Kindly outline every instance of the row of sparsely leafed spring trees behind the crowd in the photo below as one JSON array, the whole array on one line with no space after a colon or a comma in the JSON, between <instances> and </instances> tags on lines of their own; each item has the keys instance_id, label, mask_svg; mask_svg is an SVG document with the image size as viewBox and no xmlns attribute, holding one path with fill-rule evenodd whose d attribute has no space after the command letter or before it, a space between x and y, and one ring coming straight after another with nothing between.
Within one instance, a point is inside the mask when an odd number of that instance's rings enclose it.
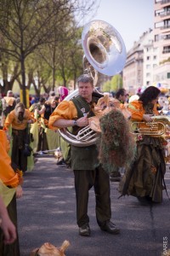
<instances>
[{"instance_id":1,"label":"row of sparsely leafed spring trees behind the crowd","mask_svg":"<svg viewBox=\"0 0 170 256\"><path fill-rule=\"evenodd\" d=\"M14 81L33 84L37 96L82 73L82 19L93 15L94 0L0 0L0 73L2 93ZM82 24L83 25L83 24Z\"/></svg>"}]
</instances>

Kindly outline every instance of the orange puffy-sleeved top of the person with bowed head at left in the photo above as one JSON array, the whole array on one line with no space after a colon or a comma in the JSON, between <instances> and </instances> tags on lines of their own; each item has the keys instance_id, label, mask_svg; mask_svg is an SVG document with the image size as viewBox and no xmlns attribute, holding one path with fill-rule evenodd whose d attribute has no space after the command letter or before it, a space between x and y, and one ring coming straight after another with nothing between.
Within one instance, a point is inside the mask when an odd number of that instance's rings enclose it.
<instances>
[{"instance_id":1,"label":"orange puffy-sleeved top of the person with bowed head at left","mask_svg":"<svg viewBox=\"0 0 170 256\"><path fill-rule=\"evenodd\" d=\"M12 125L12 127L16 130L25 130L28 120L32 120L33 123L36 122L36 119L33 117L32 113L28 109L25 109L24 120L22 122L20 122L17 119L15 111L13 110L10 113L8 113L8 116L5 119L5 123L3 127L4 129L8 130L8 127Z\"/></svg>"}]
</instances>

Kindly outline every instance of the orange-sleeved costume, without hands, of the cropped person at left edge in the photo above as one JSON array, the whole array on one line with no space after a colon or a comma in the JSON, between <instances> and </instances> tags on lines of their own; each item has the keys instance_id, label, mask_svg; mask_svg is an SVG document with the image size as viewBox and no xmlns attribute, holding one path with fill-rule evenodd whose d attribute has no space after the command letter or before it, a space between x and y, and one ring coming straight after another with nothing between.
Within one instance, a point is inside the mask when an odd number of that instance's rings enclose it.
<instances>
[{"instance_id":1,"label":"orange-sleeved costume, without hands, of the cropped person at left edge","mask_svg":"<svg viewBox=\"0 0 170 256\"><path fill-rule=\"evenodd\" d=\"M8 156L8 139L5 131L0 130L0 195L7 207L8 216L17 230L17 210L16 210L16 187L22 183L22 172L14 172L11 167L11 160ZM3 231L0 229L0 251L1 255L20 256L19 239L6 245L3 242Z\"/></svg>"}]
</instances>

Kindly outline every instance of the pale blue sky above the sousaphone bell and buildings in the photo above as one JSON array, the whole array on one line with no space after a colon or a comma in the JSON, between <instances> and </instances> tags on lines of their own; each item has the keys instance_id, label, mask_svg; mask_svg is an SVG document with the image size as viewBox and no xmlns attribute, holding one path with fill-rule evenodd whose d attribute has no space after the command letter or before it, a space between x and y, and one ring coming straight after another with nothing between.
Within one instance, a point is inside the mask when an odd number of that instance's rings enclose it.
<instances>
[{"instance_id":1,"label":"pale blue sky above the sousaphone bell and buildings","mask_svg":"<svg viewBox=\"0 0 170 256\"><path fill-rule=\"evenodd\" d=\"M104 20L121 34L127 51L143 32L154 27L155 0L100 0L91 20ZM89 21L91 21L89 20Z\"/></svg>"}]
</instances>

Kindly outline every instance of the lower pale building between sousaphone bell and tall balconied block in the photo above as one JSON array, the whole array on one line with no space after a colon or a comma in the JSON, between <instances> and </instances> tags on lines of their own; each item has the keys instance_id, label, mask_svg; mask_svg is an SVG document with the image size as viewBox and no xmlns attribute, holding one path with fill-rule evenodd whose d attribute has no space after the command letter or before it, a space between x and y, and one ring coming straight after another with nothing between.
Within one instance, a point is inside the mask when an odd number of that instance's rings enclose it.
<instances>
[{"instance_id":1,"label":"lower pale building between sousaphone bell and tall balconied block","mask_svg":"<svg viewBox=\"0 0 170 256\"><path fill-rule=\"evenodd\" d=\"M123 87L130 93L135 94L144 86L144 83L151 84L153 55L153 32L151 29L144 32L137 42L134 42L133 48L127 52L127 61L123 69ZM147 54L147 55L146 55ZM144 68L145 67L145 68ZM149 68L150 67L150 68ZM148 69L147 78L145 72Z\"/></svg>"}]
</instances>

